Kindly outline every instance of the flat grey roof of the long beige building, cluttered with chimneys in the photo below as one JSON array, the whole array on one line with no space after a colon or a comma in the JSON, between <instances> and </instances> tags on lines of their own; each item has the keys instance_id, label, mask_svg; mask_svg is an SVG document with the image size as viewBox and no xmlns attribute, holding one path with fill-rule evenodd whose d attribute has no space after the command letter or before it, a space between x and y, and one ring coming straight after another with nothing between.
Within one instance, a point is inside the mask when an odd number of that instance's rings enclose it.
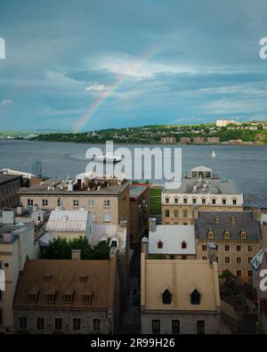
<instances>
[{"instance_id":1,"label":"flat grey roof of the long beige building, cluttered with chimneys","mask_svg":"<svg viewBox=\"0 0 267 352\"><path fill-rule=\"evenodd\" d=\"M53 180L54 182L54 180ZM54 194L54 195L62 195L62 194L69 194L69 195L83 195L83 194L91 194L91 195L118 195L124 191L125 187L128 185L128 182L124 184L118 185L110 185L108 187L101 188L99 191L73 191L69 192L68 188L55 188L48 190L48 186L53 184L52 180L46 181L43 184L37 184L35 186L25 188L20 191L20 194Z\"/></svg>"}]
</instances>

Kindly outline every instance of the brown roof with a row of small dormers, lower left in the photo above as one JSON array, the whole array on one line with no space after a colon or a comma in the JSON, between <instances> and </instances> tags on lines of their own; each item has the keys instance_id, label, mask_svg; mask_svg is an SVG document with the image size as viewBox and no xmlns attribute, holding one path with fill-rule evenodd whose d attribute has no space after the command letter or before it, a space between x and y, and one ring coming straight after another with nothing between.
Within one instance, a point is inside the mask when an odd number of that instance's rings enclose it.
<instances>
[{"instance_id":1,"label":"brown roof with a row of small dormers, lower left","mask_svg":"<svg viewBox=\"0 0 267 352\"><path fill-rule=\"evenodd\" d=\"M85 275L87 275L86 278ZM115 278L116 258L109 260L27 260L17 282L13 307L106 309L113 307ZM69 294L69 291L73 292L73 299L71 303L65 303L64 295ZM33 292L36 294L36 302L32 302L32 299L28 302L28 294ZM89 305L84 302L84 295L89 295L88 292L93 295ZM46 302L47 294L55 295L53 303Z\"/></svg>"}]
</instances>

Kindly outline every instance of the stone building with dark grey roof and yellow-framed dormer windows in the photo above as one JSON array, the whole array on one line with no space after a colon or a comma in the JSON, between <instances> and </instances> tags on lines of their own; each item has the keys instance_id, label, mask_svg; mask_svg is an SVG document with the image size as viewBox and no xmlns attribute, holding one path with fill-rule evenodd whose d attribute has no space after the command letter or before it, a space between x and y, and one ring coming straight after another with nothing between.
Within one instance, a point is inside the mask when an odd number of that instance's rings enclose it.
<instances>
[{"instance_id":1,"label":"stone building with dark grey roof and yellow-framed dormer windows","mask_svg":"<svg viewBox=\"0 0 267 352\"><path fill-rule=\"evenodd\" d=\"M197 258L208 257L208 243L216 246L219 274L231 271L238 282L252 283L250 262L261 249L260 222L252 211L195 211Z\"/></svg>"}]
</instances>

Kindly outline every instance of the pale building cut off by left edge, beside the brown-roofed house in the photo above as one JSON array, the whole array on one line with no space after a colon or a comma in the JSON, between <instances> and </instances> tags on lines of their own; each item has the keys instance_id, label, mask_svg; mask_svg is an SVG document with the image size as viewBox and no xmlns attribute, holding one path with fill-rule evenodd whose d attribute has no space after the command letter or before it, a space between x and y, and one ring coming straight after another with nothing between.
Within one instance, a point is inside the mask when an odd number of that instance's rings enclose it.
<instances>
[{"instance_id":1,"label":"pale building cut off by left edge, beside the brown-roofed house","mask_svg":"<svg viewBox=\"0 0 267 352\"><path fill-rule=\"evenodd\" d=\"M0 332L12 332L12 300L20 270L27 258L37 258L34 225L1 224L0 269L4 291L0 294Z\"/></svg>"}]
</instances>

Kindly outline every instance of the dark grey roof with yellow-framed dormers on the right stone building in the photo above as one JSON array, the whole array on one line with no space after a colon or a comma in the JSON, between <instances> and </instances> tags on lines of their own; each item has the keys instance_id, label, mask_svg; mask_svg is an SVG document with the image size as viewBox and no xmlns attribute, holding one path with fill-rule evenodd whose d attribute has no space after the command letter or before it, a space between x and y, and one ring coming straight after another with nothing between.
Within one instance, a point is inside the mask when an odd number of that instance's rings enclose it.
<instances>
[{"instance_id":1,"label":"dark grey roof with yellow-framed dormers on the right stone building","mask_svg":"<svg viewBox=\"0 0 267 352\"><path fill-rule=\"evenodd\" d=\"M219 217L220 224L215 224L215 218ZM231 224L231 218L235 218L235 224ZM247 233L247 240L256 241L261 238L261 226L253 217L252 211L199 211L195 219L195 233L200 240L207 239L209 230L214 232L214 240L223 240L224 232L231 233L232 240L240 240L240 232Z\"/></svg>"}]
</instances>

